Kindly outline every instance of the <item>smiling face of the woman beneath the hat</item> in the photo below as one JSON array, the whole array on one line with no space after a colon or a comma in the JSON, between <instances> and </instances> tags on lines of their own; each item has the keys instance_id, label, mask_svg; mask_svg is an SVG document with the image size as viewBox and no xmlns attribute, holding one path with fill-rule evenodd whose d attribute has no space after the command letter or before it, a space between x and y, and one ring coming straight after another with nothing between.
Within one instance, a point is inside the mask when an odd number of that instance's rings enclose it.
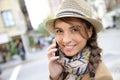
<instances>
[{"instance_id":1,"label":"smiling face of the woman beneath the hat","mask_svg":"<svg viewBox=\"0 0 120 80\"><path fill-rule=\"evenodd\" d=\"M55 40L66 56L74 56L85 47L87 39L81 36L86 35L83 29L80 34L80 29L85 27L80 20L73 18L69 22L71 24L56 20Z\"/></svg>"}]
</instances>

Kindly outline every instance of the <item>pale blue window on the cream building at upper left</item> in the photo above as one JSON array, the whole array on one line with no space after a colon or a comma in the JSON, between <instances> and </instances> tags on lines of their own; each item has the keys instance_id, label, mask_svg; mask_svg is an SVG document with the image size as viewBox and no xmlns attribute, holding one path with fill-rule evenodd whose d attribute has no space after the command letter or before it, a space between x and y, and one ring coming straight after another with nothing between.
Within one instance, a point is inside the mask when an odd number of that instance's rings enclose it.
<instances>
[{"instance_id":1,"label":"pale blue window on the cream building at upper left","mask_svg":"<svg viewBox=\"0 0 120 80\"><path fill-rule=\"evenodd\" d=\"M13 15L10 10L2 11L1 14L5 27L11 27L15 25Z\"/></svg>"}]
</instances>

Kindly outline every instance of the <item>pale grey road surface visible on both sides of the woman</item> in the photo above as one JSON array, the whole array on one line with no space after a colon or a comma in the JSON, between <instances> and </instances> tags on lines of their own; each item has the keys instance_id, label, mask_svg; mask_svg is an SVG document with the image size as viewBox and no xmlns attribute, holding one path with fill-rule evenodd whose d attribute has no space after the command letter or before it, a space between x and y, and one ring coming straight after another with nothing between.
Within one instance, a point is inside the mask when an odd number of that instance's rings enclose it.
<instances>
[{"instance_id":1,"label":"pale grey road surface visible on both sides of the woman","mask_svg":"<svg viewBox=\"0 0 120 80\"><path fill-rule=\"evenodd\" d=\"M120 29L106 30L98 34L98 43L103 49L102 59L110 69L114 80L120 80ZM44 51L43 51L44 52ZM48 80L47 56L8 68L2 80Z\"/></svg>"}]
</instances>

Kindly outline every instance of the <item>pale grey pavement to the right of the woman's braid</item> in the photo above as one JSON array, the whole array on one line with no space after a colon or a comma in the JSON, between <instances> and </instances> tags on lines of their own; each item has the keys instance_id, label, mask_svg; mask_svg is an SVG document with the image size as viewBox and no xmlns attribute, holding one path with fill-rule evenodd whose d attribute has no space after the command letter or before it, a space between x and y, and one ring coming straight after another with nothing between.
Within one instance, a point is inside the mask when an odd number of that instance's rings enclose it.
<instances>
[{"instance_id":1,"label":"pale grey pavement to the right of the woman's braid","mask_svg":"<svg viewBox=\"0 0 120 80\"><path fill-rule=\"evenodd\" d=\"M120 80L120 29L109 29L99 34L99 43L103 49L103 60L113 80Z\"/></svg>"}]
</instances>

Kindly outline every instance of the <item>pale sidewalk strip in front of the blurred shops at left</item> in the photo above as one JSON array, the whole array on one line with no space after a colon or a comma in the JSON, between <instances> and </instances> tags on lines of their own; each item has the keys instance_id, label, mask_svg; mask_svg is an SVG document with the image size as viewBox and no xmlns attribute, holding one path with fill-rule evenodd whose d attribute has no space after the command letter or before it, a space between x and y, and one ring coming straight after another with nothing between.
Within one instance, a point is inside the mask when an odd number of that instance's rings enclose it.
<instances>
[{"instance_id":1,"label":"pale sidewalk strip in front of the blurred shops at left","mask_svg":"<svg viewBox=\"0 0 120 80\"><path fill-rule=\"evenodd\" d=\"M19 64L24 64L27 62L32 62L38 59L41 59L42 57L45 57L46 55L46 50L47 50L47 46L45 46L43 49L41 50L37 50L35 52L32 53L27 53L26 55L26 60L22 61L19 55L15 55L13 60L8 61L6 63L1 63L0 66L2 68L2 70L8 69L8 68L12 68L15 67Z\"/></svg>"}]
</instances>

